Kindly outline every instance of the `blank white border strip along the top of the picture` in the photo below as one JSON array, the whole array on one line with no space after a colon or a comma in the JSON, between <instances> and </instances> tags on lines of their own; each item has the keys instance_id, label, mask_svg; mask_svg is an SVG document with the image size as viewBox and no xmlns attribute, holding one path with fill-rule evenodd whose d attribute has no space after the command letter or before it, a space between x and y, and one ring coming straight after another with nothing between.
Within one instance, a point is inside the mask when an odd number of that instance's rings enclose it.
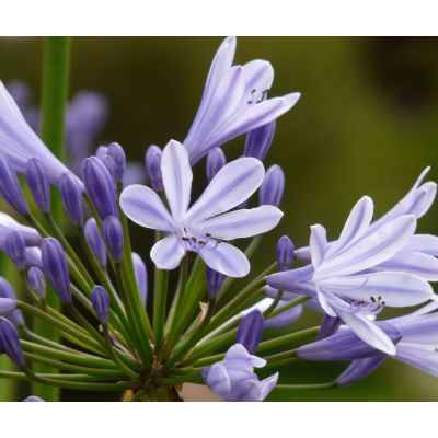
<instances>
[{"instance_id":1,"label":"blank white border strip along the top of the picture","mask_svg":"<svg viewBox=\"0 0 438 438\"><path fill-rule=\"evenodd\" d=\"M3 35L436 35L435 0L3 0Z\"/></svg>"}]
</instances>

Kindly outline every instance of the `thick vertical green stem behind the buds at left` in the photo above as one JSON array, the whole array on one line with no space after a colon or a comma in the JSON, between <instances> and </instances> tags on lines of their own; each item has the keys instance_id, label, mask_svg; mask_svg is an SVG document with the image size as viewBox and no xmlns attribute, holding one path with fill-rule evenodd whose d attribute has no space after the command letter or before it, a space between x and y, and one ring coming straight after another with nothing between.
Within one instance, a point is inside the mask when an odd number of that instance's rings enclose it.
<instances>
[{"instance_id":1,"label":"thick vertical green stem behind the buds at left","mask_svg":"<svg viewBox=\"0 0 438 438\"><path fill-rule=\"evenodd\" d=\"M66 107L68 99L70 38L49 36L44 41L43 84L42 84L42 127L41 134L45 145L58 159L64 159ZM51 208L58 223L61 223L62 207L59 196L54 193ZM47 302L59 306L56 295L48 290ZM44 321L36 320L35 333L51 341L58 335ZM51 367L36 365L35 372L56 372ZM59 390L46 387L41 382L32 384L32 393L47 401L58 401Z\"/></svg>"}]
</instances>

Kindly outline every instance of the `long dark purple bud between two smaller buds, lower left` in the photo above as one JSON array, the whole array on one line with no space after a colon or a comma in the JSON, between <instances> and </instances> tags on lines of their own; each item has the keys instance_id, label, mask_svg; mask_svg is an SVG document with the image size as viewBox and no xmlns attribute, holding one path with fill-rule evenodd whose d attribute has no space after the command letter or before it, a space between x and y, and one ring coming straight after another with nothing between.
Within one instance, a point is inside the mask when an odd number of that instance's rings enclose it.
<instances>
[{"instance_id":1,"label":"long dark purple bud between two smaller buds, lower left","mask_svg":"<svg viewBox=\"0 0 438 438\"><path fill-rule=\"evenodd\" d=\"M42 261L46 275L59 299L65 304L71 303L70 276L67 256L61 244L54 238L43 239Z\"/></svg>"}]
</instances>

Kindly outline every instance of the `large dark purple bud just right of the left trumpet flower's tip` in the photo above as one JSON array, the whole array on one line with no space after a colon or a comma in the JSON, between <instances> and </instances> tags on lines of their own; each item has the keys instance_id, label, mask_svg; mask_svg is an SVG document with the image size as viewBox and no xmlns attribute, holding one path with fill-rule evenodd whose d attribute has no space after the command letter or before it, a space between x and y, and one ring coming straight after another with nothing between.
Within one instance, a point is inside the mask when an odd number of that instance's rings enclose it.
<instances>
[{"instance_id":1,"label":"large dark purple bud just right of the left trumpet flower's tip","mask_svg":"<svg viewBox=\"0 0 438 438\"><path fill-rule=\"evenodd\" d=\"M117 216L117 201L113 178L110 172L95 157L90 157L82 162L82 178L85 191L95 206L99 216Z\"/></svg>"}]
</instances>

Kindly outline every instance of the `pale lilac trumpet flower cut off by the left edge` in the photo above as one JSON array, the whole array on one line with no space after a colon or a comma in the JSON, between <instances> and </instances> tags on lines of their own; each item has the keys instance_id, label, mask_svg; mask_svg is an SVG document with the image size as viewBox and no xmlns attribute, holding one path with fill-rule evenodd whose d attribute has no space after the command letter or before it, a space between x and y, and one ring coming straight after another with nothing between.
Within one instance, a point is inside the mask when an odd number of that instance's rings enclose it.
<instances>
[{"instance_id":1,"label":"pale lilac trumpet flower cut off by the left edge","mask_svg":"<svg viewBox=\"0 0 438 438\"><path fill-rule=\"evenodd\" d=\"M25 171L27 160L41 160L48 180L58 184L65 172L70 172L43 143L27 125L15 102L0 81L0 152L8 157L16 172ZM78 183L82 183L78 178Z\"/></svg>"}]
</instances>

